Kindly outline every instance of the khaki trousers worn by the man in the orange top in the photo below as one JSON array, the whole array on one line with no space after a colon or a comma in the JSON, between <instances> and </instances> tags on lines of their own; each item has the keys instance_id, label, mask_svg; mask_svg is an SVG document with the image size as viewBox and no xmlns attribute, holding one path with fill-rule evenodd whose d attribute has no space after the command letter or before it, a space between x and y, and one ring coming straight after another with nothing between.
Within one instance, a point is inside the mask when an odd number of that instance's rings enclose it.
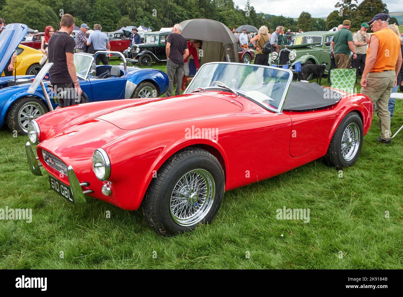
<instances>
[{"instance_id":1,"label":"khaki trousers worn by the man in the orange top","mask_svg":"<svg viewBox=\"0 0 403 297\"><path fill-rule=\"evenodd\" d=\"M380 138L382 139L390 139L392 136L391 113L388 109L388 103L395 79L396 73L393 70L380 73L370 72L367 75L367 86L361 88L361 93L368 96L375 104L375 112L379 117Z\"/></svg>"}]
</instances>

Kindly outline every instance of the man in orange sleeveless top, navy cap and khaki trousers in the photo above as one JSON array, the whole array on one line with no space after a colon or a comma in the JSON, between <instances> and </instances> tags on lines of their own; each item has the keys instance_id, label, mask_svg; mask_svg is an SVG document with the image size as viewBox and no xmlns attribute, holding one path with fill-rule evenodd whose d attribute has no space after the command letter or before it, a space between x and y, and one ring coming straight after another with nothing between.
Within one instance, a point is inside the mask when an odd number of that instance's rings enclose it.
<instances>
[{"instance_id":1,"label":"man in orange sleeveless top, navy cap and khaki trousers","mask_svg":"<svg viewBox=\"0 0 403 297\"><path fill-rule=\"evenodd\" d=\"M361 93L375 104L381 130L377 140L382 143L391 143L391 113L388 102L402 64L401 42L396 33L388 28L388 21L389 15L378 13L368 22L374 33L370 38L361 78Z\"/></svg>"}]
</instances>

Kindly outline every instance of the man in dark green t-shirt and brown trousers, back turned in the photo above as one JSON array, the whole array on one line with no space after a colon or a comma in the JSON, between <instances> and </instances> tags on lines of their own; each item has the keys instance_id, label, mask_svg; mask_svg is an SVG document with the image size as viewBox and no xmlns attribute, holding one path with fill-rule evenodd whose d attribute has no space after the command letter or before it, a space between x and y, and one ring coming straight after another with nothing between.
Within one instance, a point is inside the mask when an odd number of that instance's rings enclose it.
<instances>
[{"instance_id":1,"label":"man in dark green t-shirt and brown trousers, back turned","mask_svg":"<svg viewBox=\"0 0 403 297\"><path fill-rule=\"evenodd\" d=\"M353 33L349 30L350 20L343 21L343 27L333 35L332 48L337 68L347 68L349 56L353 52L353 59L357 58L353 44Z\"/></svg>"}]
</instances>

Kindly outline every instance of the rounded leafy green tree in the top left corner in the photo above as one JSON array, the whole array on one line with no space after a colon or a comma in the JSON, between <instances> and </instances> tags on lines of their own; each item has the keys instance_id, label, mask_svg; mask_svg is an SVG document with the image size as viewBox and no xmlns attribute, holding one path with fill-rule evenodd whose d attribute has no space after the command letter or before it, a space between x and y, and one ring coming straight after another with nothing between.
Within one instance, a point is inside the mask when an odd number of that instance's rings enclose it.
<instances>
[{"instance_id":1,"label":"rounded leafy green tree in the top left corner","mask_svg":"<svg viewBox=\"0 0 403 297\"><path fill-rule=\"evenodd\" d=\"M6 0L2 18L6 23L23 23L38 31L44 31L49 25L58 28L60 22L52 8L37 0Z\"/></svg>"}]
</instances>

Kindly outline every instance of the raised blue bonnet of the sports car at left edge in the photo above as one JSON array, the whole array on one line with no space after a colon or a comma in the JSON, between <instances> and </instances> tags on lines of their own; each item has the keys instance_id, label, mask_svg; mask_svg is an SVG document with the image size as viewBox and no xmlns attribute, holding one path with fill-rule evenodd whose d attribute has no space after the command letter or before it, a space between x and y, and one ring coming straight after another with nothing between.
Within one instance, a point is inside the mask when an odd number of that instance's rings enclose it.
<instances>
[{"instance_id":1,"label":"raised blue bonnet of the sports car at left edge","mask_svg":"<svg viewBox=\"0 0 403 297\"><path fill-rule=\"evenodd\" d=\"M0 34L0 70L8 66L12 54L28 33L28 26L24 24L8 24Z\"/></svg>"}]
</instances>

